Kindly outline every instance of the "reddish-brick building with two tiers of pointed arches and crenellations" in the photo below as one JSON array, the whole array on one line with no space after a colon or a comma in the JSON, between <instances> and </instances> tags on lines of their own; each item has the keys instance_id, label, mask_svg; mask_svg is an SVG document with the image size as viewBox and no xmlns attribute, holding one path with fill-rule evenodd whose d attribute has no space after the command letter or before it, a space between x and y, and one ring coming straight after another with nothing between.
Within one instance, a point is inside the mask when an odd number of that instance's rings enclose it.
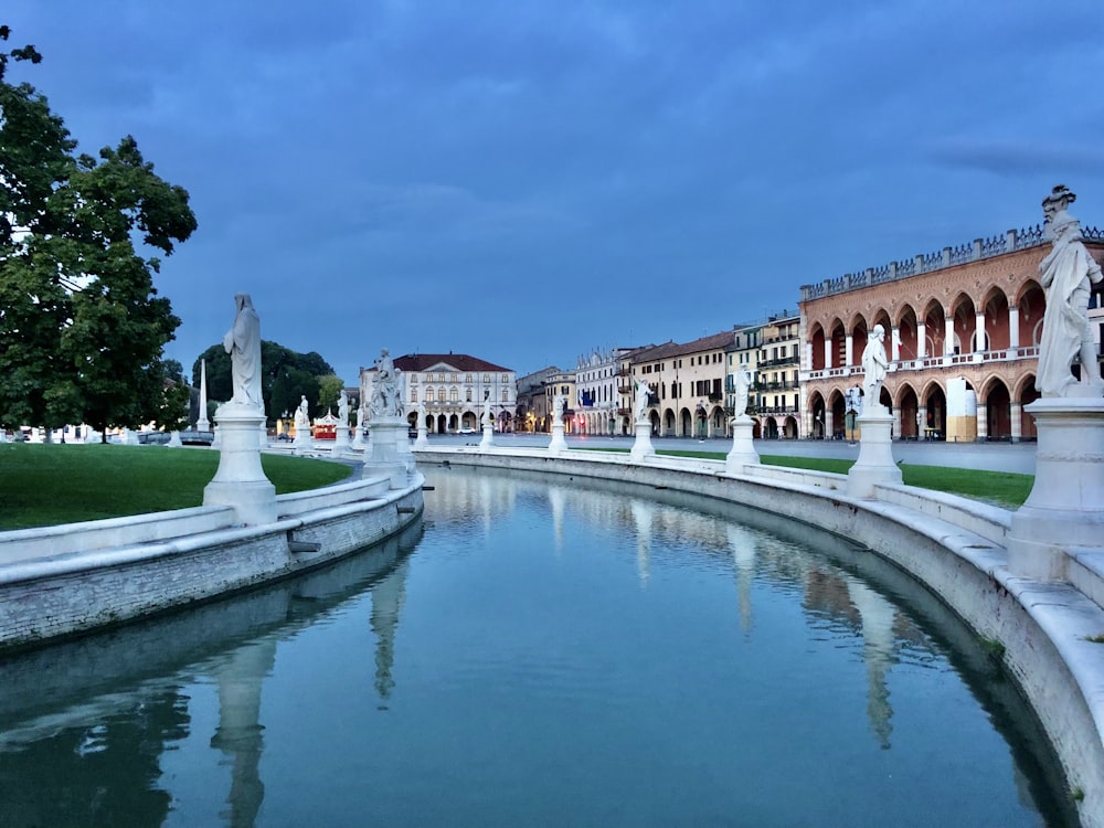
<instances>
[{"instance_id":1,"label":"reddish-brick building with two tiers of pointed arches and crenellations","mask_svg":"<svg viewBox=\"0 0 1104 828\"><path fill-rule=\"evenodd\" d=\"M1084 235L1102 258L1104 233ZM881 325L890 373L880 402L895 436L1034 437L1023 406L1038 396L1039 263L1049 252L1037 226L803 286L802 433L822 423L841 435L843 392L859 384L867 332ZM964 384L952 388L955 379Z\"/></svg>"}]
</instances>

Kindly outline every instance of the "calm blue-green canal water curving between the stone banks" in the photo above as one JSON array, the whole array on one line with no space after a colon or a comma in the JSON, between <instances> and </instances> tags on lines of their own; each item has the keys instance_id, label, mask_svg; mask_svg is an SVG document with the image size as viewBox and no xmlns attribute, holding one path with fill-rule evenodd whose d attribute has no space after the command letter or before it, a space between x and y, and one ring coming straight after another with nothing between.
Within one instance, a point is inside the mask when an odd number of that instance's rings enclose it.
<instances>
[{"instance_id":1,"label":"calm blue-green canal water curving between the stone banks","mask_svg":"<svg viewBox=\"0 0 1104 828\"><path fill-rule=\"evenodd\" d=\"M424 533L0 662L0 826L1075 824L995 662L869 552L427 473Z\"/></svg>"}]
</instances>

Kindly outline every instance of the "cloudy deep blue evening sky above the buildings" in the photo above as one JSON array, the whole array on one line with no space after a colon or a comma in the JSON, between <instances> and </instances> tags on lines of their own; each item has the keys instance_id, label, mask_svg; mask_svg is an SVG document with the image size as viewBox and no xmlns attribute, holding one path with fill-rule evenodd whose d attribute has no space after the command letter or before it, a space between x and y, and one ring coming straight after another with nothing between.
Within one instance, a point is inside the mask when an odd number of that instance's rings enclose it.
<instances>
[{"instance_id":1,"label":"cloudy deep blue evening sky above the buildings","mask_svg":"<svg viewBox=\"0 0 1104 828\"><path fill-rule=\"evenodd\" d=\"M799 287L1104 226L1100 0L6 0L79 150L132 135L199 230L185 369L248 293L347 384L381 348L519 375Z\"/></svg>"}]
</instances>

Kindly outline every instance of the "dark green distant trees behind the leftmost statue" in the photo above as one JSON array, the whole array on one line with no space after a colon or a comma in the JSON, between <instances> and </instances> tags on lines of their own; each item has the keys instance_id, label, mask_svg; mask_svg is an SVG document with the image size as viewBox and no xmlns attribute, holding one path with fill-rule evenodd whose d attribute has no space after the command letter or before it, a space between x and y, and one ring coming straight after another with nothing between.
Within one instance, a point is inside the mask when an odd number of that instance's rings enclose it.
<instances>
[{"instance_id":1,"label":"dark green distant trees behind the leftmost statue","mask_svg":"<svg viewBox=\"0 0 1104 828\"><path fill-rule=\"evenodd\" d=\"M192 364L193 385L200 382L200 360L206 360L208 400L230 400L234 385L226 349L221 344L211 346L199 355ZM323 414L319 379L332 375L333 369L315 351L298 353L278 342L261 340L261 395L269 420L283 416L285 411L294 411L304 396L311 417Z\"/></svg>"}]
</instances>

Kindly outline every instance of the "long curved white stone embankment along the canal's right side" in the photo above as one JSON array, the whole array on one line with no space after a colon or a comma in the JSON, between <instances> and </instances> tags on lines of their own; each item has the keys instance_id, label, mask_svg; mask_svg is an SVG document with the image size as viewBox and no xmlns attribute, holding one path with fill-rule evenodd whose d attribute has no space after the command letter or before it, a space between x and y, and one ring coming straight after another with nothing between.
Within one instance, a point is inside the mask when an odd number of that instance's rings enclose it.
<instances>
[{"instance_id":1,"label":"long curved white stone embankment along the canal's right side","mask_svg":"<svg viewBox=\"0 0 1104 828\"><path fill-rule=\"evenodd\" d=\"M420 463L521 469L667 488L741 503L861 543L942 597L997 654L1045 729L1082 824L1104 828L1104 577L1071 565L1071 583L1016 577L1005 539L1011 512L965 498L879 485L850 498L847 478L719 460L572 449L415 449Z\"/></svg>"}]
</instances>

